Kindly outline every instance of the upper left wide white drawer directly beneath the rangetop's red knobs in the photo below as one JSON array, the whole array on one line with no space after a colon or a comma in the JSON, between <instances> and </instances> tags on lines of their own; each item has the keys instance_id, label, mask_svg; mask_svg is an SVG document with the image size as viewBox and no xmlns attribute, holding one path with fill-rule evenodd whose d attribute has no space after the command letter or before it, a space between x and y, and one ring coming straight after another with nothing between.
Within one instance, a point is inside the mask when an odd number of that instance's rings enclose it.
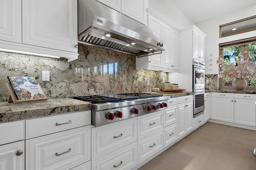
<instances>
[{"instance_id":1,"label":"upper left wide white drawer directly beneath the rangetop's red knobs","mask_svg":"<svg viewBox=\"0 0 256 170\"><path fill-rule=\"evenodd\" d=\"M92 128L92 160L137 141L137 117Z\"/></svg>"}]
</instances>

